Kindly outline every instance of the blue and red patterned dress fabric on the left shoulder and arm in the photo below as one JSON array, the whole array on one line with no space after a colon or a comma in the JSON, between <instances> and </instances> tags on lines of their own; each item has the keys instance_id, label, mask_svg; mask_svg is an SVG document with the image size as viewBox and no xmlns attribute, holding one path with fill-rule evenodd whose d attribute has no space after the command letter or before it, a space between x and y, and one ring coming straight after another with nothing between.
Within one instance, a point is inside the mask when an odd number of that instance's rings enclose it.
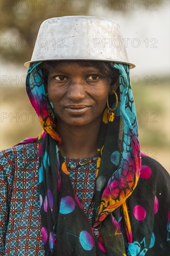
<instances>
[{"instance_id":1,"label":"blue and red patterned dress fabric on the left shoulder and arm","mask_svg":"<svg viewBox=\"0 0 170 256\"><path fill-rule=\"evenodd\" d=\"M0 152L0 255L44 256L38 164L36 144Z\"/></svg>"}]
</instances>

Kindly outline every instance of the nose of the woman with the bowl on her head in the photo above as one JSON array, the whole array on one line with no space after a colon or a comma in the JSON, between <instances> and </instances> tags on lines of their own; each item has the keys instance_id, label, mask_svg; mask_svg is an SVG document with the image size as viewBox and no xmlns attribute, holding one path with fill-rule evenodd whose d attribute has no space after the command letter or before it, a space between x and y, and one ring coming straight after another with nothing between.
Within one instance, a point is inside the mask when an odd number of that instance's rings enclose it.
<instances>
[{"instance_id":1,"label":"nose of the woman with the bowl on her head","mask_svg":"<svg viewBox=\"0 0 170 256\"><path fill-rule=\"evenodd\" d=\"M81 101L85 98L85 86L79 79L72 81L67 90L67 97L71 101Z\"/></svg>"}]
</instances>

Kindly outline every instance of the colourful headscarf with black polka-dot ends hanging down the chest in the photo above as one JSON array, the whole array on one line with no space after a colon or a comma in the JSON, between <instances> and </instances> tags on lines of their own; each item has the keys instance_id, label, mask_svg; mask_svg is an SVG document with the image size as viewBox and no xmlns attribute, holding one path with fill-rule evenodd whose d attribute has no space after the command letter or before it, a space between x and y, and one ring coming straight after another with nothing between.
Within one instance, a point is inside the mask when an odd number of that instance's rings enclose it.
<instances>
[{"instance_id":1,"label":"colourful headscarf with black polka-dot ends hanging down the chest","mask_svg":"<svg viewBox=\"0 0 170 256\"><path fill-rule=\"evenodd\" d=\"M44 130L38 137L38 147L40 214L46 255L125 256L123 235L114 215L121 206L126 236L132 243L126 199L137 186L141 169L129 66L110 63L119 70L119 102L115 121L107 121L107 108L101 121L91 226L74 194L59 151L61 138L57 133L57 115L46 97L40 63L30 65L26 91ZM114 107L113 97L109 97Z\"/></svg>"}]
</instances>

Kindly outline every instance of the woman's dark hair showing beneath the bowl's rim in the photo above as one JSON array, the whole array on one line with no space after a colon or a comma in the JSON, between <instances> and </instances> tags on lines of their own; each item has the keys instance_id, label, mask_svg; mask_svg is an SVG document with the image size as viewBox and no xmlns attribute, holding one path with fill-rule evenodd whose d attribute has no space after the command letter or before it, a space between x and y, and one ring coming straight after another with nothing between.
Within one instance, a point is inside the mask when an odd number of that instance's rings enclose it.
<instances>
[{"instance_id":1,"label":"woman's dark hair showing beneath the bowl's rim","mask_svg":"<svg viewBox=\"0 0 170 256\"><path fill-rule=\"evenodd\" d=\"M61 61L58 61L61 62ZM63 62L63 61L62 61ZM119 71L116 68L111 67L108 61L82 61L78 60L77 61L80 66L83 67L92 67L95 66L97 67L103 76L105 78L110 77L111 81L114 83L118 80L119 76ZM56 65L56 61L43 61L40 64L40 68L42 69L43 72L43 78L45 81L45 86L47 86L47 79L48 79L48 74L51 69L53 69Z\"/></svg>"}]
</instances>

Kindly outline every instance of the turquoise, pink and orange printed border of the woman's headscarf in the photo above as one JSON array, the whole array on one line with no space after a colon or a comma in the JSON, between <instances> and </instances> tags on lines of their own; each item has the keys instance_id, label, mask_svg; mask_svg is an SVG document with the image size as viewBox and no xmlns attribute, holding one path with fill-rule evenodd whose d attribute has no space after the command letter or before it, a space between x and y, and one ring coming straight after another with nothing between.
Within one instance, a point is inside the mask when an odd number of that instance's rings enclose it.
<instances>
[{"instance_id":1,"label":"turquoise, pink and orange printed border of the woman's headscarf","mask_svg":"<svg viewBox=\"0 0 170 256\"><path fill-rule=\"evenodd\" d=\"M57 133L57 115L52 108L52 104L46 100L42 70L39 68L37 69L38 71L33 74L34 68L39 67L40 63L41 62L32 63L29 67L26 77L26 92L44 130L38 137L39 157L41 158L41 145L45 140L46 135L49 135L57 141L58 145L61 143L61 138ZM129 66L127 64L113 62L110 62L110 65L111 67L119 70L120 102L119 108L116 110L115 114L120 116L120 119L122 119L123 136L121 138L122 145L120 151L113 152L113 155L119 155L119 164L116 164L113 161L116 166L115 171L107 182L105 189L101 189L101 200L98 209L96 210L96 218L93 227L98 227L98 225L104 221L106 216L119 206L122 206L125 218L126 234L129 242L131 243L131 225L125 201L136 188L141 169L137 116L131 91ZM49 113L52 113L52 115ZM111 123L108 123L107 125L109 127ZM30 141L30 139L28 141ZM24 143L28 141L25 140ZM105 149L105 144L103 146L104 147L98 149L101 154L98 157L96 182L98 182L98 179L103 177L101 176L100 171L100 165L103 161L102 151L103 148Z\"/></svg>"}]
</instances>

